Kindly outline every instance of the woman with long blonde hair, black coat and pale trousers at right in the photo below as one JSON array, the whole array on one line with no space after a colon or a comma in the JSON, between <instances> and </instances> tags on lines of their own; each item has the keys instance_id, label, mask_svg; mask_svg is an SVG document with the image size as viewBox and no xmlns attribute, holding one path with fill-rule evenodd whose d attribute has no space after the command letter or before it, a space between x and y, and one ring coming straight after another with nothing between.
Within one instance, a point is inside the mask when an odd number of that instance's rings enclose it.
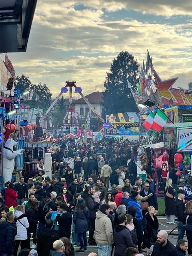
<instances>
[{"instance_id":1,"label":"woman with long blonde hair, black coat and pale trousers at right","mask_svg":"<svg viewBox=\"0 0 192 256\"><path fill-rule=\"evenodd\" d=\"M172 179L167 179L166 186L164 190L164 200L165 200L165 213L166 213L166 223L176 224L175 222L175 190L172 187Z\"/></svg>"}]
</instances>

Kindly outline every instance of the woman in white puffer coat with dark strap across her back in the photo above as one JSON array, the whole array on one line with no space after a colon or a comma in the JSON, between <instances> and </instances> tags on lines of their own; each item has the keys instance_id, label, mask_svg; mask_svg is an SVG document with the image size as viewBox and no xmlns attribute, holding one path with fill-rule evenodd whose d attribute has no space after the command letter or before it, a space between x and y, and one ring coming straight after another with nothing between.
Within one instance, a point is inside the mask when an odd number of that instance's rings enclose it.
<instances>
[{"instance_id":1,"label":"woman in white puffer coat with dark strap across her back","mask_svg":"<svg viewBox=\"0 0 192 256\"><path fill-rule=\"evenodd\" d=\"M15 255L17 255L19 245L22 249L30 249L30 240L28 239L27 228L29 227L28 219L25 215L23 205L16 207L15 216L17 217L17 235L15 236Z\"/></svg>"}]
</instances>

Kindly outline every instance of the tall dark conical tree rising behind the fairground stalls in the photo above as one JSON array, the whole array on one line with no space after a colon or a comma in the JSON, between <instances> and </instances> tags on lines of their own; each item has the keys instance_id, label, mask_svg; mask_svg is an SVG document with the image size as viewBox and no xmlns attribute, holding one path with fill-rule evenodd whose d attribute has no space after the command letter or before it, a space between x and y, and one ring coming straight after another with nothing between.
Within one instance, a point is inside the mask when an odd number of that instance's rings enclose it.
<instances>
[{"instance_id":1,"label":"tall dark conical tree rising behind the fairground stalls","mask_svg":"<svg viewBox=\"0 0 192 256\"><path fill-rule=\"evenodd\" d=\"M131 87L137 89L139 65L134 56L127 51L120 52L107 72L103 93L103 106L105 114L138 112L137 105L133 99L127 79Z\"/></svg>"}]
</instances>

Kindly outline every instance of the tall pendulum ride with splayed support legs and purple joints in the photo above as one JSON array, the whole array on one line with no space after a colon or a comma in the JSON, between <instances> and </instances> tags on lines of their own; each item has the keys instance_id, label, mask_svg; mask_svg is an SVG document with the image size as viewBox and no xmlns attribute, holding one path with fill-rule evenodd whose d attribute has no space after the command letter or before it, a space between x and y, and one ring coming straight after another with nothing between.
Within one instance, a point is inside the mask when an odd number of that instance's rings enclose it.
<instances>
[{"instance_id":1,"label":"tall pendulum ride with splayed support legs and purple joints","mask_svg":"<svg viewBox=\"0 0 192 256\"><path fill-rule=\"evenodd\" d=\"M64 117L64 125L68 125L68 126L74 126L76 124L78 124L78 118L77 115L75 114L73 107L72 107L72 103L73 103L73 94L72 94L72 87L75 88L75 93L79 93L81 95L81 97L84 99L84 101L87 103L87 105L91 108L91 110L95 113L96 117L100 120L100 122L102 123L102 125L99 127L98 131L100 131L103 127L104 124L104 120L103 118L97 113L97 111L94 109L94 107L89 103L89 101L86 99L86 97L82 94L82 89L81 87L77 87L75 85L76 82L66 82L65 87L61 88L61 92L59 93L59 95L56 97L56 99L54 100L54 102L51 104L51 106L48 108L48 110L45 112L45 114L47 115L50 110L53 108L53 106L57 103L58 99L60 98L60 96L63 93L67 93L68 92L68 88L69 88L69 106L68 106L68 111L67 114Z\"/></svg>"}]
</instances>

